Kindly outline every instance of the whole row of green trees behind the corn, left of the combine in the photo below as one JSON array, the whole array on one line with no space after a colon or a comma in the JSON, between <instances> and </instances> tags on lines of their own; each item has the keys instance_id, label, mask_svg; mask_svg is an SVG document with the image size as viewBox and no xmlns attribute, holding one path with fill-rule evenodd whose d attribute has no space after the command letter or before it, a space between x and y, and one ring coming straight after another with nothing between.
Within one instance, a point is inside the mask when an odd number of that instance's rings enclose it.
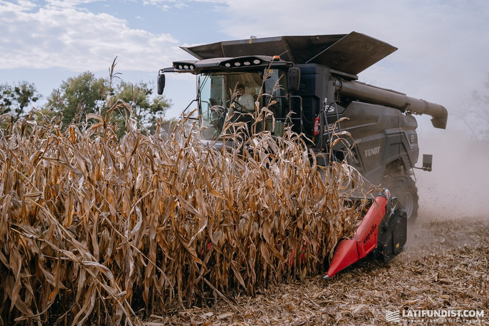
<instances>
[{"instance_id":1,"label":"whole row of green trees behind the corn, left of the combine","mask_svg":"<svg viewBox=\"0 0 489 326\"><path fill-rule=\"evenodd\" d=\"M111 74L109 78L97 78L89 71L69 77L54 89L45 103L38 105L40 94L32 83L22 81L17 84L0 84L0 115L12 114L15 120L32 111L47 116L59 115L63 127L79 123L87 113L105 113L119 99L131 105L134 118L146 129L155 130L158 119L172 105L163 95L153 94L152 85L145 82L129 83ZM116 112L114 122L124 125L123 112ZM168 124L169 121L165 120ZM123 127L123 126L122 126ZM120 128L121 133L125 128Z\"/></svg>"}]
</instances>

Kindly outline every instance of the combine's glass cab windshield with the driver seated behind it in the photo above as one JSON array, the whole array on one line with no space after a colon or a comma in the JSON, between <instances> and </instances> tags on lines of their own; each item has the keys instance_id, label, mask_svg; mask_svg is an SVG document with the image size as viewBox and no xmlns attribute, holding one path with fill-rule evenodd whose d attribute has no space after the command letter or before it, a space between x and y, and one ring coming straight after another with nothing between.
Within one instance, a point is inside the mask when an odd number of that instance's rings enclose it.
<instances>
[{"instance_id":1,"label":"combine's glass cab windshield with the driver seated behind it","mask_svg":"<svg viewBox=\"0 0 489 326\"><path fill-rule=\"evenodd\" d=\"M265 81L264 81L265 75ZM285 118L289 104L285 98L287 78L283 69L266 69L252 72L213 72L199 76L200 117L205 130L201 137L205 140L218 139L222 134L226 117L232 121L244 121L251 127L256 105L261 109L270 101L277 101L273 107L275 118ZM239 120L241 119L241 120ZM283 121L276 121L275 128L270 121L265 122L266 130L283 132ZM263 130L263 126L262 126Z\"/></svg>"}]
</instances>

